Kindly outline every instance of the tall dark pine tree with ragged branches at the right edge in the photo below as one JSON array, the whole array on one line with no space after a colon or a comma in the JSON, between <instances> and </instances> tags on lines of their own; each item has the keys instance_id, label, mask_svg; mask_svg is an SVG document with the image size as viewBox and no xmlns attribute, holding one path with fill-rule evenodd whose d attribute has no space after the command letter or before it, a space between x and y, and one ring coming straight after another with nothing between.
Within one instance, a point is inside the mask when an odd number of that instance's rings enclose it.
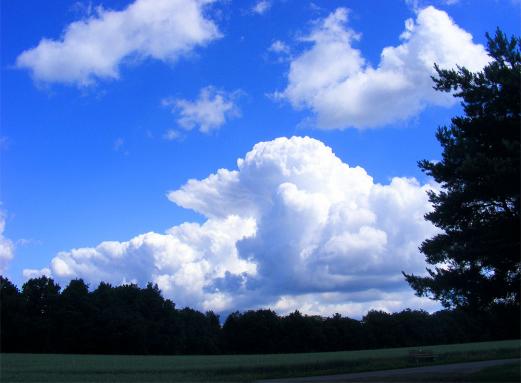
<instances>
[{"instance_id":1,"label":"tall dark pine tree with ragged branches at the right edge","mask_svg":"<svg viewBox=\"0 0 521 383\"><path fill-rule=\"evenodd\" d=\"M519 310L521 39L499 30L487 39L492 61L482 72L436 67L435 89L455 91L465 115L438 129L442 160L419 162L442 186L425 216L442 233L420 248L429 275L405 276L447 308Z\"/></svg>"}]
</instances>

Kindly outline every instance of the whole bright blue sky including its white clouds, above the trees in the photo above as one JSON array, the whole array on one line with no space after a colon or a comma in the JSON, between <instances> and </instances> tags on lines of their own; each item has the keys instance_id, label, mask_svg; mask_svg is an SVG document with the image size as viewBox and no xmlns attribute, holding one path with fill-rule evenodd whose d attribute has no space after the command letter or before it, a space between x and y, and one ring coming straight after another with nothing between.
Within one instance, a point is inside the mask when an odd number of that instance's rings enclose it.
<instances>
[{"instance_id":1,"label":"whole bright blue sky including its white clouds, above the trees","mask_svg":"<svg viewBox=\"0 0 521 383\"><path fill-rule=\"evenodd\" d=\"M223 312L435 309L397 279L423 270L416 245L435 232L421 222L430 181L416 162L439 158L434 132L460 112L432 91L429 60L480 70L485 32L518 34L519 11L510 0L2 1L3 273L18 285L39 273L153 280ZM273 141L292 136L315 140ZM335 192L351 187L363 190ZM346 226L362 213L373 218ZM329 282L305 283L309 268Z\"/></svg>"}]
</instances>

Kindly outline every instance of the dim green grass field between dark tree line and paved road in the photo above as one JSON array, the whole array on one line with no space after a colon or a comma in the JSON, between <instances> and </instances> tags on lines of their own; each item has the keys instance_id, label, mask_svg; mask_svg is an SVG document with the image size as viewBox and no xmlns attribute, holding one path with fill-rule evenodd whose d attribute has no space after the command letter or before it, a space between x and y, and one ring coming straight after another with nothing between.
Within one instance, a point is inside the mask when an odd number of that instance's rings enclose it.
<instances>
[{"instance_id":1,"label":"dim green grass field between dark tree line and paved road","mask_svg":"<svg viewBox=\"0 0 521 383\"><path fill-rule=\"evenodd\" d=\"M0 354L2 382L248 382L416 366L413 348L217 356ZM432 363L516 358L519 340L428 346Z\"/></svg>"}]
</instances>

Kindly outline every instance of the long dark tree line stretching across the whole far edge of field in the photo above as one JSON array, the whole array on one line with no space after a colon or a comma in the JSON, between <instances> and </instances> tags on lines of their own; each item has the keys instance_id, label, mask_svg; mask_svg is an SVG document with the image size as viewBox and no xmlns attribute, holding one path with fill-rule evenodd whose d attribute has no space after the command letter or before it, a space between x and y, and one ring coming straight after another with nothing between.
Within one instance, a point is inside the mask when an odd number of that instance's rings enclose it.
<instances>
[{"instance_id":1,"label":"long dark tree line stretching across the whole far edge of field","mask_svg":"<svg viewBox=\"0 0 521 383\"><path fill-rule=\"evenodd\" d=\"M82 280L61 290L52 279L21 291L0 276L1 352L220 354L358 350L519 337L519 313L497 306L481 314L444 310L370 311L362 320L298 311L235 312L221 326L213 312L178 309L156 285L89 291Z\"/></svg>"}]
</instances>

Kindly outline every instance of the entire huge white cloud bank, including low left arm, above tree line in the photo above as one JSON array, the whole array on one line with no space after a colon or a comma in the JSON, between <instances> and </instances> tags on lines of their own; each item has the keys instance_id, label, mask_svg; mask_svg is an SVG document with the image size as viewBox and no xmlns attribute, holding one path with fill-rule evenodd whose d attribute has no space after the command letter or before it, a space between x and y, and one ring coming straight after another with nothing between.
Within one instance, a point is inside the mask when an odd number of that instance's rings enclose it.
<instances>
[{"instance_id":1,"label":"entire huge white cloud bank, including low left arm, above tree line","mask_svg":"<svg viewBox=\"0 0 521 383\"><path fill-rule=\"evenodd\" d=\"M153 281L180 305L217 311L430 309L401 271L424 270L431 188L410 178L381 185L320 141L278 138L256 144L237 169L168 194L203 224L62 252L50 268L94 283Z\"/></svg>"}]
</instances>

